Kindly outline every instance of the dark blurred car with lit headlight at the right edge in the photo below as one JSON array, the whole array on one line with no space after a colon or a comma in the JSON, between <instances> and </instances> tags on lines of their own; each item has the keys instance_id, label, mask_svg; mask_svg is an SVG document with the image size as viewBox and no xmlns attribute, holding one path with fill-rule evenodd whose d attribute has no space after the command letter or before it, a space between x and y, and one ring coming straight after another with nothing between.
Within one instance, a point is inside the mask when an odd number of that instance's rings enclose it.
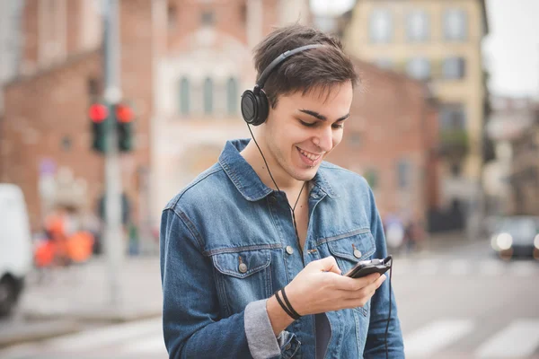
<instances>
[{"instance_id":1,"label":"dark blurred car with lit headlight at the right edge","mask_svg":"<svg viewBox=\"0 0 539 359\"><path fill-rule=\"evenodd\" d=\"M539 259L539 217L507 216L491 225L490 245L501 258Z\"/></svg>"}]
</instances>

